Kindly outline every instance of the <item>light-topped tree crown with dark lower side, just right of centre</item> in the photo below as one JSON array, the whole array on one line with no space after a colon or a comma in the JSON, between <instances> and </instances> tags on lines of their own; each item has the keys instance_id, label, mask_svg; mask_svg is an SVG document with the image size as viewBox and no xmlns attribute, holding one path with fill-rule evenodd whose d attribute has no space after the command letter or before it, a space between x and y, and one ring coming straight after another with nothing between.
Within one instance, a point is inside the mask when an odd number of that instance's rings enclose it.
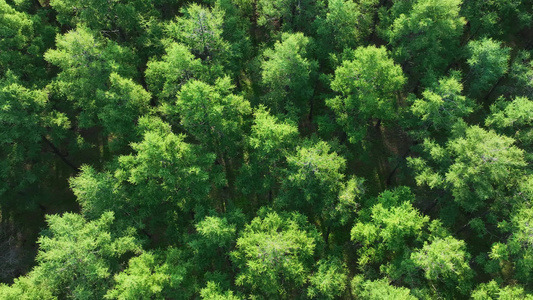
<instances>
[{"instance_id":1,"label":"light-topped tree crown with dark lower side, just right of centre","mask_svg":"<svg viewBox=\"0 0 533 300\"><path fill-rule=\"evenodd\" d=\"M287 156L281 190L275 205L330 221L337 212L346 160L324 141L305 141Z\"/></svg>"}]
</instances>

